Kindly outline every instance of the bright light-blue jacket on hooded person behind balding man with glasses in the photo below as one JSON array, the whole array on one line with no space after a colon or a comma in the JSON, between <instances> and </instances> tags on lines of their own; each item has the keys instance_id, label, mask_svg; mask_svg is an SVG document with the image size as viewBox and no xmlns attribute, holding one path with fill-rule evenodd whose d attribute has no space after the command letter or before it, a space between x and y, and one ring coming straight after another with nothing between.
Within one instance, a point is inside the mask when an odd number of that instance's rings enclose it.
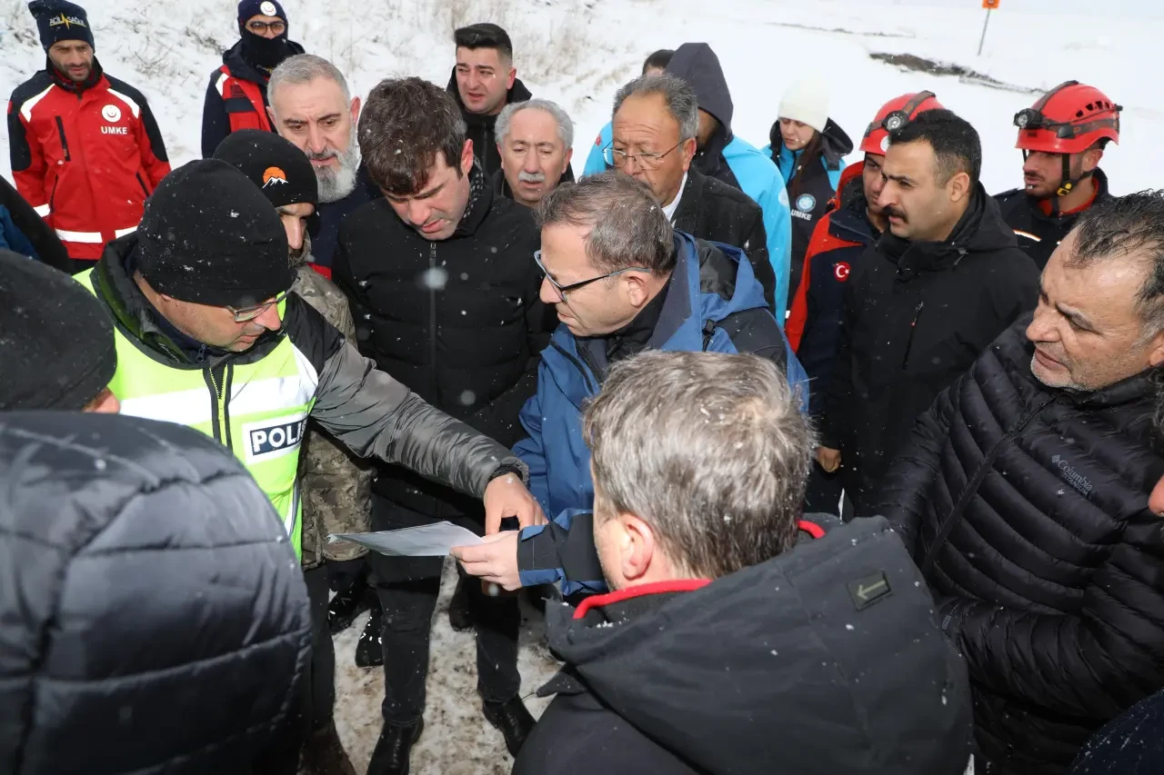
<instances>
[{"instance_id":1,"label":"bright light-blue jacket on hooded person behind balding man with glasses","mask_svg":"<svg viewBox=\"0 0 1164 775\"><path fill-rule=\"evenodd\" d=\"M608 123L598 133L590 148L582 175L598 175L606 171L606 162L602 157L603 149L611 143L613 136ZM723 149L724 161L731 168L739 190L760 206L764 213L764 230L768 235L768 261L772 271L776 273L776 320L783 320L788 310L788 273L792 269L792 214L788 206L788 192L780 170L767 156L754 145L732 137Z\"/></svg>"}]
</instances>

